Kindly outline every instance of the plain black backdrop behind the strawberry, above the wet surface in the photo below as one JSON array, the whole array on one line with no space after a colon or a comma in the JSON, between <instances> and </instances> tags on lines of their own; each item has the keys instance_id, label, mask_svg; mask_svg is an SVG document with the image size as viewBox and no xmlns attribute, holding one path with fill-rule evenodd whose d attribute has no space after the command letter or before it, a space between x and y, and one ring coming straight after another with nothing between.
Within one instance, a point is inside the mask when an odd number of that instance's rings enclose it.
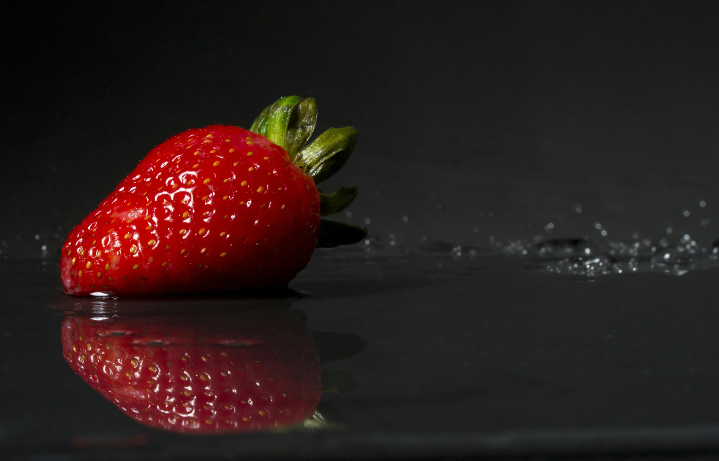
<instances>
[{"instance_id":1,"label":"plain black backdrop behind the strawberry, above the wet surface","mask_svg":"<svg viewBox=\"0 0 719 461\"><path fill-rule=\"evenodd\" d=\"M153 146L290 93L316 98L318 132L359 130L323 188L359 185L345 218L377 238L712 238L718 19L714 2L34 4L1 32L0 250L54 259Z\"/></svg>"}]
</instances>

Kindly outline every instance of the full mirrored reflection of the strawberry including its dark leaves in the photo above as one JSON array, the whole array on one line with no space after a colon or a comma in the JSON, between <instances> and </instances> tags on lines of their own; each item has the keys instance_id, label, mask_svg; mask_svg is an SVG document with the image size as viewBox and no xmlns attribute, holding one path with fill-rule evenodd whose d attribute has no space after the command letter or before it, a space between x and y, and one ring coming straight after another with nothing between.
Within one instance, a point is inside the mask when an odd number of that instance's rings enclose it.
<instances>
[{"instance_id":1,"label":"full mirrored reflection of the strawberry including its dark leaves","mask_svg":"<svg viewBox=\"0 0 719 461\"><path fill-rule=\"evenodd\" d=\"M91 387L140 424L181 434L346 425L321 392L357 383L322 368L362 352L357 335L309 332L291 290L253 297L78 299L65 316L63 356Z\"/></svg>"}]
</instances>

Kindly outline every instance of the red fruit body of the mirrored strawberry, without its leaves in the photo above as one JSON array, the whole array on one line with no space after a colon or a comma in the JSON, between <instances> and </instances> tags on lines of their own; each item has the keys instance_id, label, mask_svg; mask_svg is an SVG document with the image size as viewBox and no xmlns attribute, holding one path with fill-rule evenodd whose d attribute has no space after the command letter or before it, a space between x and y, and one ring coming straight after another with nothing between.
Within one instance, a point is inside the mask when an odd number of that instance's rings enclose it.
<instances>
[{"instance_id":1,"label":"red fruit body of the mirrored strawberry, without its leaves","mask_svg":"<svg viewBox=\"0 0 719 461\"><path fill-rule=\"evenodd\" d=\"M66 317L70 367L137 422L173 432L299 424L321 394L319 358L291 312Z\"/></svg>"}]
</instances>

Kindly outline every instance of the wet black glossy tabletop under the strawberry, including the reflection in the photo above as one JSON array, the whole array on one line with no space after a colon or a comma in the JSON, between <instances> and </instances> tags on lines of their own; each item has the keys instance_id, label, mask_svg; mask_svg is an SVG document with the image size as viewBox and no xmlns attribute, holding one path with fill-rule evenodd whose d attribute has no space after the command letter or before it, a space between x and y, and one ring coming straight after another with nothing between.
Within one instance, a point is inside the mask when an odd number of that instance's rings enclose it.
<instances>
[{"instance_id":1,"label":"wet black glossy tabletop under the strawberry, including the reflection","mask_svg":"<svg viewBox=\"0 0 719 461\"><path fill-rule=\"evenodd\" d=\"M252 297L78 299L58 295L56 268L6 262L4 450L152 459L715 447L715 269L566 276L449 247L320 250L292 290Z\"/></svg>"}]
</instances>

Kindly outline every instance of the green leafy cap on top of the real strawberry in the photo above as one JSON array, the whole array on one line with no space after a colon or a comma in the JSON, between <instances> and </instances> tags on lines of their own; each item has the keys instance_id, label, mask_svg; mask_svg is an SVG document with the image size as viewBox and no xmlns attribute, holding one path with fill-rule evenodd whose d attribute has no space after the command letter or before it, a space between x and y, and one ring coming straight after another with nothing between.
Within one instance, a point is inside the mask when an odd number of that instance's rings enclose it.
<instances>
[{"instance_id":1,"label":"green leafy cap on top of the real strawberry","mask_svg":"<svg viewBox=\"0 0 719 461\"><path fill-rule=\"evenodd\" d=\"M357 143L352 126L331 128L307 141L317 123L317 105L312 98L284 96L265 108L255 118L250 131L282 146L297 167L313 177L315 184L328 179L347 163ZM357 187L340 187L325 195L320 193L320 213L339 213L357 197ZM367 236L367 229L336 221L321 220L318 248L332 248L357 243Z\"/></svg>"}]
</instances>

